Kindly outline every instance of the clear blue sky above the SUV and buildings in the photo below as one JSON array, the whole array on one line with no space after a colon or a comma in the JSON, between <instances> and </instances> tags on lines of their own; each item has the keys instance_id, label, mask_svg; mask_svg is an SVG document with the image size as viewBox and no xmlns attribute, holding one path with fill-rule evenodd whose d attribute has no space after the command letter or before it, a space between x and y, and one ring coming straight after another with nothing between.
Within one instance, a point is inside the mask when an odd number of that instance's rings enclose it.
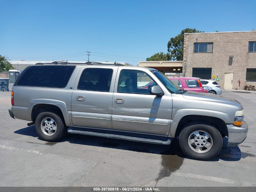
<instances>
[{"instance_id":1,"label":"clear blue sky above the SUV and buildings","mask_svg":"<svg viewBox=\"0 0 256 192\"><path fill-rule=\"evenodd\" d=\"M0 55L137 65L182 29L251 31L256 1L0 0Z\"/></svg>"}]
</instances>

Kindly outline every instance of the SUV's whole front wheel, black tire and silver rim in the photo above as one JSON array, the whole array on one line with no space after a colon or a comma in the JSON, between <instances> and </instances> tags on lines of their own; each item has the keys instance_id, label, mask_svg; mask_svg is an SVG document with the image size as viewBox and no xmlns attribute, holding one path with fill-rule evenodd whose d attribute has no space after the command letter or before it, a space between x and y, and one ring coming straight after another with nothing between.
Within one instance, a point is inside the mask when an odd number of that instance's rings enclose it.
<instances>
[{"instance_id":1,"label":"SUV's whole front wheel, black tire and silver rim","mask_svg":"<svg viewBox=\"0 0 256 192\"><path fill-rule=\"evenodd\" d=\"M193 122L180 133L181 150L196 160L208 160L218 155L222 147L221 133L212 124Z\"/></svg>"}]
</instances>

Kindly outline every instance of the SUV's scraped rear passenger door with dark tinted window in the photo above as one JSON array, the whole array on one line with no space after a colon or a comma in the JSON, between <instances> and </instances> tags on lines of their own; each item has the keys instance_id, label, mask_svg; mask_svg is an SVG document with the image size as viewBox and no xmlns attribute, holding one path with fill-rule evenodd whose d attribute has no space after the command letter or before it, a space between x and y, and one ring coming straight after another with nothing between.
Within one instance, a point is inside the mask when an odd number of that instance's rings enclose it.
<instances>
[{"instance_id":1,"label":"SUV's scraped rear passenger door with dark tinted window","mask_svg":"<svg viewBox=\"0 0 256 192\"><path fill-rule=\"evenodd\" d=\"M104 69L107 69L107 71ZM117 69L118 67L115 66L101 66L100 68L95 66L81 67L71 98L73 126L112 129L111 108ZM109 70L112 71L112 77L106 79L108 78L106 73L109 74ZM85 74L87 71L90 71L90 73ZM82 82L84 85L82 85ZM103 85L105 83L110 84L109 91L107 89L103 91L97 89L99 84Z\"/></svg>"}]
</instances>

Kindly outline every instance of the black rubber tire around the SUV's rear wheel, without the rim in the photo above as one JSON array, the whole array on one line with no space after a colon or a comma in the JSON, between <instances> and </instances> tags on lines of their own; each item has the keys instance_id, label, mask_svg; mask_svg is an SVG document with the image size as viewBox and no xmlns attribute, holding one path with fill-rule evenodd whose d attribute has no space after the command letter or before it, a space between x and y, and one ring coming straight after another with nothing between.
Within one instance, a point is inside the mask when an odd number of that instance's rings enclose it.
<instances>
[{"instance_id":1,"label":"black rubber tire around the SUV's rear wheel, without the rim","mask_svg":"<svg viewBox=\"0 0 256 192\"><path fill-rule=\"evenodd\" d=\"M43 131L41 130L41 121L47 117L50 117L53 120L55 120L57 124L56 132L51 136L45 135L45 133L43 133ZM66 135L67 126L64 123L61 113L58 113L57 111L48 111L38 114L35 120L35 130L38 136L42 138L42 140L55 142L62 139Z\"/></svg>"}]
</instances>

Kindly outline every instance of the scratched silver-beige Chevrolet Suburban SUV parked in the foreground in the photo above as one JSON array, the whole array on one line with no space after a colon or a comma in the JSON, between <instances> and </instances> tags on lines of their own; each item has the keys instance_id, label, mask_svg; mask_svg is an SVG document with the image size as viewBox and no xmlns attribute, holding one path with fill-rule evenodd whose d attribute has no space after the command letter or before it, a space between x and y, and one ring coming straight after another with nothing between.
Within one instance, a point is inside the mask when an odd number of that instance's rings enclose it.
<instances>
[{"instance_id":1,"label":"scratched silver-beige Chevrolet Suburban SUV parked in the foreground","mask_svg":"<svg viewBox=\"0 0 256 192\"><path fill-rule=\"evenodd\" d=\"M148 82L153 81L150 86ZM29 66L12 88L12 118L32 121L39 137L66 133L169 145L198 160L242 143L248 125L234 99L178 88L156 69L86 63Z\"/></svg>"}]
</instances>

